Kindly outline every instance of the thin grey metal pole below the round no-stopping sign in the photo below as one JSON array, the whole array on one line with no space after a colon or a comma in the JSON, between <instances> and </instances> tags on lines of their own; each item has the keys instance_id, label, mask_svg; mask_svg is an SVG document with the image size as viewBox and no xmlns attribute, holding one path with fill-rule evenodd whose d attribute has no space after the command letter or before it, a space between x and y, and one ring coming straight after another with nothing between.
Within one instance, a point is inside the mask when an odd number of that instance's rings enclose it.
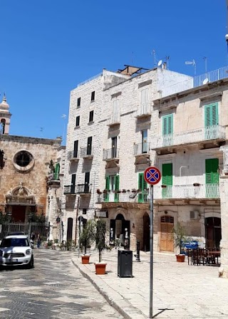
<instances>
[{"instance_id":1,"label":"thin grey metal pole below the round no-stopping sign","mask_svg":"<svg viewBox=\"0 0 228 319\"><path fill-rule=\"evenodd\" d=\"M150 318L152 318L153 192L153 185L150 185Z\"/></svg>"}]
</instances>

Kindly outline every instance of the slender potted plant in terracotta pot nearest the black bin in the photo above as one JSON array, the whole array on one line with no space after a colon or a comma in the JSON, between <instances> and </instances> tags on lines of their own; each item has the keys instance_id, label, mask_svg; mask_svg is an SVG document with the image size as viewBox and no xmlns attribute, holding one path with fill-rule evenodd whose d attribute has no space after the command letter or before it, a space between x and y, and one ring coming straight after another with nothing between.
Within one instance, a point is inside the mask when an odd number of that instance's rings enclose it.
<instances>
[{"instance_id":1,"label":"slender potted plant in terracotta pot nearest the black bin","mask_svg":"<svg viewBox=\"0 0 228 319\"><path fill-rule=\"evenodd\" d=\"M96 275L105 275L106 263L102 263L102 251L105 249L105 231L106 224L103 219L98 219L96 222L96 233L95 233L95 247L99 253L99 263L95 263Z\"/></svg>"}]
</instances>

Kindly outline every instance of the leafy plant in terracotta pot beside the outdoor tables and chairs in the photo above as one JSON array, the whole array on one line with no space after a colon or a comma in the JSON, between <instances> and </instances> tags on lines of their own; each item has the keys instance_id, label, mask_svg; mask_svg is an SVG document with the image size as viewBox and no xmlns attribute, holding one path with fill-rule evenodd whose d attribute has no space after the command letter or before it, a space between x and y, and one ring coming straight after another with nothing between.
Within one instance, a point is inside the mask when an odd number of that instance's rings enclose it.
<instances>
[{"instance_id":1,"label":"leafy plant in terracotta pot beside the outdoor tables and chairs","mask_svg":"<svg viewBox=\"0 0 228 319\"><path fill-rule=\"evenodd\" d=\"M184 262L185 261L185 254L182 252L182 246L188 241L185 227L182 226L179 222L177 222L177 226L173 227L172 229L172 238L174 240L174 246L180 251L177 253L177 261Z\"/></svg>"}]
</instances>

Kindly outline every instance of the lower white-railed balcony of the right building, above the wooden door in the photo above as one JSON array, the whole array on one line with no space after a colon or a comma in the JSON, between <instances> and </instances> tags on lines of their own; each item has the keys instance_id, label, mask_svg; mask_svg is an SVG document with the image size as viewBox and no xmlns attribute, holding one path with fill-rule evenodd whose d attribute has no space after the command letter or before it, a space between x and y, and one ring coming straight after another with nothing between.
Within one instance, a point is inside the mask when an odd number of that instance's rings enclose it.
<instances>
[{"instance_id":1,"label":"lower white-railed balcony of the right building, above the wooden door","mask_svg":"<svg viewBox=\"0 0 228 319\"><path fill-rule=\"evenodd\" d=\"M155 186L154 199L219 199L219 184Z\"/></svg>"}]
</instances>

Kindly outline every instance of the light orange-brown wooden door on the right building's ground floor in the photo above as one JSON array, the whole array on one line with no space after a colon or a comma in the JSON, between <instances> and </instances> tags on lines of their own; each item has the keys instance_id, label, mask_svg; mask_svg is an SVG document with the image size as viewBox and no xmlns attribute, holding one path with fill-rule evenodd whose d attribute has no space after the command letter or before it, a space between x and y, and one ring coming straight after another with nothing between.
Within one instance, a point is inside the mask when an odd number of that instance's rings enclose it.
<instances>
[{"instance_id":1,"label":"light orange-brown wooden door on the right building's ground floor","mask_svg":"<svg viewBox=\"0 0 228 319\"><path fill-rule=\"evenodd\" d=\"M162 216L160 223L160 251L173 251L173 217Z\"/></svg>"}]
</instances>

